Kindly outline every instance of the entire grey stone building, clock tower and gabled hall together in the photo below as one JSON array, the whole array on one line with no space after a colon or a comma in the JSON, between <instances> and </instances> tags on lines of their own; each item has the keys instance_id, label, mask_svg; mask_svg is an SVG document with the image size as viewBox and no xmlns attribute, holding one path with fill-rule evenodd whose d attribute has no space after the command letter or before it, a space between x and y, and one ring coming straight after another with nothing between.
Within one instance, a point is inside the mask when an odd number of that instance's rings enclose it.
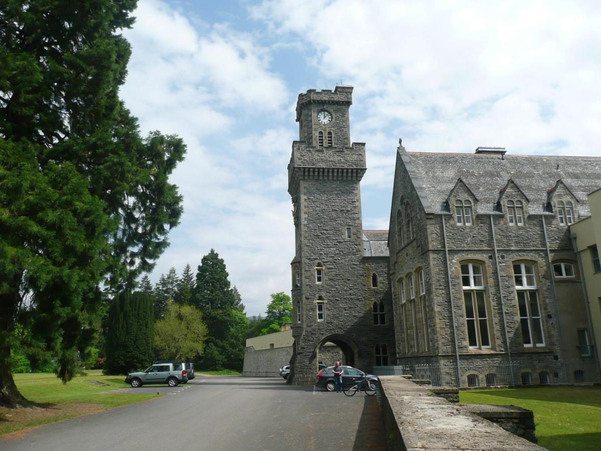
<instances>
[{"instance_id":1,"label":"entire grey stone building, clock tower and gabled hall together","mask_svg":"<svg viewBox=\"0 0 601 451\"><path fill-rule=\"evenodd\" d=\"M352 90L296 106L288 381L312 384L337 357L440 385L599 380L596 352L581 352L592 325L569 227L590 215L601 158L400 145L389 232L363 230Z\"/></svg>"}]
</instances>

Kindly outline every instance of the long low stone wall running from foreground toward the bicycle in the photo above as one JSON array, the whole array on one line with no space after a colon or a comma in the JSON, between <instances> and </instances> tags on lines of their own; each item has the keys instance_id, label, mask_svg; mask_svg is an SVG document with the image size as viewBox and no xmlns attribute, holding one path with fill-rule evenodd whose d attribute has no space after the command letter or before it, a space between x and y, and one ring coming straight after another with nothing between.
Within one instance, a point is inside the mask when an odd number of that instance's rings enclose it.
<instances>
[{"instance_id":1,"label":"long low stone wall running from foreground toward the bicycle","mask_svg":"<svg viewBox=\"0 0 601 451\"><path fill-rule=\"evenodd\" d=\"M396 450L543 450L427 388L380 377L382 415Z\"/></svg>"}]
</instances>

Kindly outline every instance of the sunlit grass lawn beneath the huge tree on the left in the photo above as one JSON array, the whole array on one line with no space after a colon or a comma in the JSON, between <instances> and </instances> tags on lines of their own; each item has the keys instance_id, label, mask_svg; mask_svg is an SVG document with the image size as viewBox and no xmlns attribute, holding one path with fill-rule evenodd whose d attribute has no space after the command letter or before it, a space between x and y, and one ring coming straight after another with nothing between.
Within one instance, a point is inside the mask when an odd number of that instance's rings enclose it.
<instances>
[{"instance_id":1,"label":"sunlit grass lawn beneath the huge tree on the left","mask_svg":"<svg viewBox=\"0 0 601 451\"><path fill-rule=\"evenodd\" d=\"M0 408L0 434L157 397L156 394L106 393L129 385L124 382L125 376L103 376L102 370L88 371L87 376L77 376L66 385L53 373L27 373L13 376L23 396L37 403L38 407ZM97 385L91 381L106 385Z\"/></svg>"}]
</instances>

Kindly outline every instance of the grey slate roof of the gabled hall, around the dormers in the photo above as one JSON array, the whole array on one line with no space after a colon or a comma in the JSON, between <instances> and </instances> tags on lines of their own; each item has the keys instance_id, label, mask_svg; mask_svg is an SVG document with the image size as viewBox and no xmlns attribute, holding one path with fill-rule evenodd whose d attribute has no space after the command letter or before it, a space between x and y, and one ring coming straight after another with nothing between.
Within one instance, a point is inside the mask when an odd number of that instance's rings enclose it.
<instances>
[{"instance_id":1,"label":"grey slate roof of the gabled hall, around the dormers","mask_svg":"<svg viewBox=\"0 0 601 451\"><path fill-rule=\"evenodd\" d=\"M528 197L530 214L545 214L549 189L561 180L590 216L587 194L601 188L601 158L593 156L478 155L400 152L426 212L448 212L447 198L457 179L478 198L476 213L495 213L499 191L509 179ZM549 214L549 213L548 213Z\"/></svg>"}]
</instances>

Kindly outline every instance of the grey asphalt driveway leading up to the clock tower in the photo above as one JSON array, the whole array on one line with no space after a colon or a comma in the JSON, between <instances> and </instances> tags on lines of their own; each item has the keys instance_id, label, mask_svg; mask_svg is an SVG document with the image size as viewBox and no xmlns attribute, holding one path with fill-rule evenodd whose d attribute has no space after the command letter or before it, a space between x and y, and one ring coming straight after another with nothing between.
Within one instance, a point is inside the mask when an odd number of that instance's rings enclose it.
<instances>
[{"instance_id":1,"label":"grey asphalt driveway leading up to the clock tower","mask_svg":"<svg viewBox=\"0 0 601 451\"><path fill-rule=\"evenodd\" d=\"M19 440L0 438L0 449L386 449L376 396L233 376L135 390L168 396L35 428Z\"/></svg>"}]
</instances>

